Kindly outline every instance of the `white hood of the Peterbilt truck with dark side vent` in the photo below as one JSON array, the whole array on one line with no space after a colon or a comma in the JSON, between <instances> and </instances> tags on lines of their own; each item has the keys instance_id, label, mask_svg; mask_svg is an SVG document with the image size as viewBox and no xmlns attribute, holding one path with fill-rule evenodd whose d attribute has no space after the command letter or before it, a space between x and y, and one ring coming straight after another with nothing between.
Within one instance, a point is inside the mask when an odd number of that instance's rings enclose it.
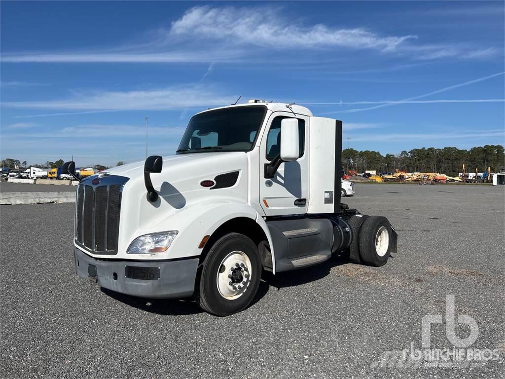
<instances>
[{"instance_id":1,"label":"white hood of the Peterbilt truck with dark side vent","mask_svg":"<svg viewBox=\"0 0 505 379\"><path fill-rule=\"evenodd\" d=\"M128 177L121 198L120 241L153 231L177 230L187 217L209 204L247 204L247 155L243 152L195 153L164 157L161 173L150 174L159 194L156 202L147 200L144 185L144 162L132 163L111 170L112 175ZM216 177L228 174L226 180ZM233 173L233 174L231 174ZM99 175L98 175L99 177ZM96 178L96 175L93 176ZM86 179L83 183L88 182ZM216 188L200 185L213 180ZM218 186L217 184L220 183ZM192 220L194 221L194 219ZM179 226L177 226L179 225ZM122 248L126 250L127 246Z\"/></svg>"}]
</instances>

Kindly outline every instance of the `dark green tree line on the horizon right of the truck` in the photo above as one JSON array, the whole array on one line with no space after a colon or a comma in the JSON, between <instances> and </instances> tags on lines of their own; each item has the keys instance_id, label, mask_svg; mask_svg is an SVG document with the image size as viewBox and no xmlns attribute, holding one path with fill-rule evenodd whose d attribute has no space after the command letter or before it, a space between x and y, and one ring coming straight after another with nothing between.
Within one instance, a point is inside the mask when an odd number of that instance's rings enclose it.
<instances>
[{"instance_id":1,"label":"dark green tree line on the horizon right of the truck","mask_svg":"<svg viewBox=\"0 0 505 379\"><path fill-rule=\"evenodd\" d=\"M407 172L438 172L449 176L457 176L462 172L463 164L467 172L479 172L491 167L496 172L505 166L505 155L501 145L485 145L470 150L446 147L443 149L422 148L403 150L400 154L381 155L376 151L342 150L342 168L359 173L376 170L377 173L407 170Z\"/></svg>"}]
</instances>

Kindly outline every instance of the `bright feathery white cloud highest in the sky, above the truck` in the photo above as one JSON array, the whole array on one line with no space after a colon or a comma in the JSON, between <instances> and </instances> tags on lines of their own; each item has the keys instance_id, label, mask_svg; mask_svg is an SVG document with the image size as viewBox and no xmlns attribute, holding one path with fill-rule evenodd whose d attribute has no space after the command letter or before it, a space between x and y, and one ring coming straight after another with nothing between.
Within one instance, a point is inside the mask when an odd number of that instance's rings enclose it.
<instances>
[{"instance_id":1,"label":"bright feathery white cloud highest in the sky, above the truck","mask_svg":"<svg viewBox=\"0 0 505 379\"><path fill-rule=\"evenodd\" d=\"M275 48L341 46L392 51L415 35L381 36L364 28L332 28L324 24L293 25L278 10L248 7L194 7L172 23L170 34L227 39L236 44Z\"/></svg>"}]
</instances>

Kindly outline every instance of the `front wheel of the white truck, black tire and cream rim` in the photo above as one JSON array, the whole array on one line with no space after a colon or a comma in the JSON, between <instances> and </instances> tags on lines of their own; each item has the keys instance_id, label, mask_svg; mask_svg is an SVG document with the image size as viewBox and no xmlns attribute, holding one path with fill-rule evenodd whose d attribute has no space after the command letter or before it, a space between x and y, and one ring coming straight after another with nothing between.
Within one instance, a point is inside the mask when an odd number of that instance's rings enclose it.
<instances>
[{"instance_id":1,"label":"front wheel of the white truck, black tire and cream rim","mask_svg":"<svg viewBox=\"0 0 505 379\"><path fill-rule=\"evenodd\" d=\"M221 237L205 258L195 300L216 316L245 309L260 286L262 265L258 248L243 234Z\"/></svg>"}]
</instances>

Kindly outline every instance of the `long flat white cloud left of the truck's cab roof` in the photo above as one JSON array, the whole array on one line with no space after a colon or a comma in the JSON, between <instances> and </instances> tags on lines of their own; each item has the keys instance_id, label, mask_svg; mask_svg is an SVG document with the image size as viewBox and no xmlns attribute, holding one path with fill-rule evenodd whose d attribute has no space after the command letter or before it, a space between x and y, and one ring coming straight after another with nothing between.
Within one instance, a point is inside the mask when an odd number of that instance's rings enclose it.
<instances>
[{"instance_id":1,"label":"long flat white cloud left of the truck's cab roof","mask_svg":"<svg viewBox=\"0 0 505 379\"><path fill-rule=\"evenodd\" d=\"M76 111L170 110L230 104L229 96L202 85L172 86L154 90L75 92L70 99L5 102L4 107Z\"/></svg>"}]
</instances>

